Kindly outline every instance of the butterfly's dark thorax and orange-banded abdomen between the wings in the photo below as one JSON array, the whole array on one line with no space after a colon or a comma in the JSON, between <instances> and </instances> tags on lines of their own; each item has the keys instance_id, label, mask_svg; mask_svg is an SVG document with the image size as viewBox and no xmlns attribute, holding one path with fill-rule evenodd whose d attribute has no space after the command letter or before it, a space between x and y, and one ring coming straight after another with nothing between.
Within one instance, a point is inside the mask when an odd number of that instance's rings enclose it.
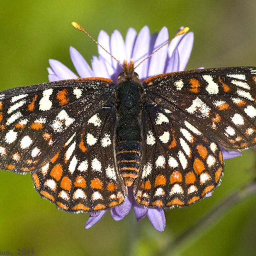
<instances>
[{"instance_id":1,"label":"butterfly's dark thorax and orange-banded abdomen between the wings","mask_svg":"<svg viewBox=\"0 0 256 256\"><path fill-rule=\"evenodd\" d=\"M126 186L138 177L141 157L140 84L125 80L117 87L116 161Z\"/></svg>"}]
</instances>

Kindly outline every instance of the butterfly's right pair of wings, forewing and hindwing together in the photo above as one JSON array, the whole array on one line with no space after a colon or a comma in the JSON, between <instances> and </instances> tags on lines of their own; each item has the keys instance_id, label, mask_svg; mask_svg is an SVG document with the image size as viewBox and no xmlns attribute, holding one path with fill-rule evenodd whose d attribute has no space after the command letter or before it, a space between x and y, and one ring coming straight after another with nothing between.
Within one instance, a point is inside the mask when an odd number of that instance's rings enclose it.
<instances>
[{"instance_id":1,"label":"butterfly's right pair of wings, forewing and hindwing together","mask_svg":"<svg viewBox=\"0 0 256 256\"><path fill-rule=\"evenodd\" d=\"M183 206L217 186L223 169L218 145L242 149L256 143L255 80L250 67L145 80L144 162L134 189L140 204Z\"/></svg>"}]
</instances>

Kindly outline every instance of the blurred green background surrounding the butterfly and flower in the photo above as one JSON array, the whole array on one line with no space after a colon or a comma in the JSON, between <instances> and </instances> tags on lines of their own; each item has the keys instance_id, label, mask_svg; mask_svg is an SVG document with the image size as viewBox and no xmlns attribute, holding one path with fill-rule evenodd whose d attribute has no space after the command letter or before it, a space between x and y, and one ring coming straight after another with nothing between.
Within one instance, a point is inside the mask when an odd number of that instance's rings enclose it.
<instances>
[{"instance_id":1,"label":"blurred green background surrounding the butterfly and flower","mask_svg":"<svg viewBox=\"0 0 256 256\"><path fill-rule=\"evenodd\" d=\"M0 89L48 80L48 59L74 71L69 46L90 62L97 47L71 26L76 21L94 37L100 30L148 25L170 36L184 25L194 32L187 69L204 66L256 66L256 2L240 0L117 1L1 0ZM255 153L226 160L222 184L213 196L188 208L166 212L166 230L157 232L147 218L135 223L134 212L119 222L110 214L89 230L88 214L67 214L43 200L26 176L0 171L0 250L34 249L34 255L152 255L189 228L232 191L254 177ZM196 234L174 255L255 255L256 195L238 204L207 232Z\"/></svg>"}]
</instances>

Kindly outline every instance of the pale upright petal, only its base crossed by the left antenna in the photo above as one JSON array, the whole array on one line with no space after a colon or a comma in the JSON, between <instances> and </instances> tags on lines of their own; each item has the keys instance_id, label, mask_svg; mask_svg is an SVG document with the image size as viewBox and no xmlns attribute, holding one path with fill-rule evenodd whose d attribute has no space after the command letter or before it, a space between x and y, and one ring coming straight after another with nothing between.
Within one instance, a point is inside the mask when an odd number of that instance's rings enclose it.
<instances>
[{"instance_id":1,"label":"pale upright petal, only its base crossed by the left antenna","mask_svg":"<svg viewBox=\"0 0 256 256\"><path fill-rule=\"evenodd\" d=\"M110 50L111 54L117 58L121 64L126 60L126 50L124 46L124 39L118 30L114 30L110 38ZM113 60L113 67L116 69L118 63Z\"/></svg>"}]
</instances>

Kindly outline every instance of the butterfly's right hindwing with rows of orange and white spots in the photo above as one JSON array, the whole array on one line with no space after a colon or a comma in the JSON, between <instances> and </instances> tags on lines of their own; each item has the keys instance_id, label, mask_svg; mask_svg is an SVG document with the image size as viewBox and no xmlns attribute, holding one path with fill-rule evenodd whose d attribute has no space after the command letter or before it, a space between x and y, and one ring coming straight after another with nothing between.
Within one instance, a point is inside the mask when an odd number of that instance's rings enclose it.
<instances>
[{"instance_id":1,"label":"butterfly's right hindwing with rows of orange and white spots","mask_svg":"<svg viewBox=\"0 0 256 256\"><path fill-rule=\"evenodd\" d=\"M144 150L134 187L139 204L186 206L218 185L223 161L216 143L172 120L170 111L155 105L145 108L142 122Z\"/></svg>"}]
</instances>

